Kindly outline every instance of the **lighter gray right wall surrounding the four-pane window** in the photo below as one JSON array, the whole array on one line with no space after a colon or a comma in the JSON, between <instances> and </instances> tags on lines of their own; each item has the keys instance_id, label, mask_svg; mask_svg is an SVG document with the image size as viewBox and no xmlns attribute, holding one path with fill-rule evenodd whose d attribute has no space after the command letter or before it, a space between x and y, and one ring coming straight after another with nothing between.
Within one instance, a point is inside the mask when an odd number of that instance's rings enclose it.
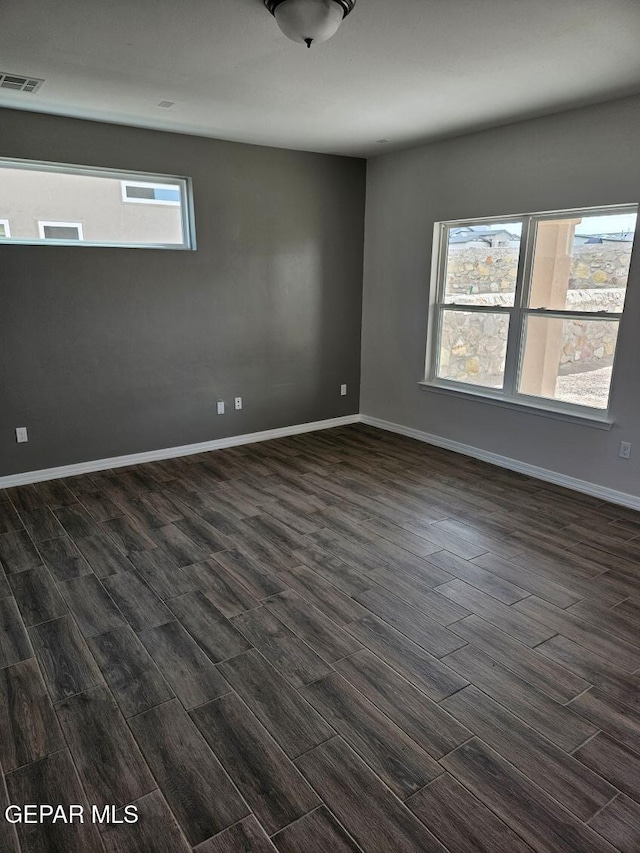
<instances>
[{"instance_id":1,"label":"lighter gray right wall surrounding the four-pane window","mask_svg":"<svg viewBox=\"0 0 640 853\"><path fill-rule=\"evenodd\" d=\"M421 390L434 222L640 200L640 99L513 124L369 161L361 410L640 496L640 240L610 432ZM634 444L618 458L621 440Z\"/></svg>"}]
</instances>

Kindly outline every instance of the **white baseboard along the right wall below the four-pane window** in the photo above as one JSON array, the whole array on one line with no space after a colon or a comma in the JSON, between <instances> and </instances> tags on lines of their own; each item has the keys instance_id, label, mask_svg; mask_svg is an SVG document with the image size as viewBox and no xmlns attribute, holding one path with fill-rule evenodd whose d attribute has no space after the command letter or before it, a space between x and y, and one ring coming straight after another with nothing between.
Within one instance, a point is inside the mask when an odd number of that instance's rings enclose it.
<instances>
[{"instance_id":1,"label":"white baseboard along the right wall below the four-pane window","mask_svg":"<svg viewBox=\"0 0 640 853\"><path fill-rule=\"evenodd\" d=\"M463 456L471 456L474 459L480 459L482 462L490 462L492 465L498 465L500 468L508 468L510 471L517 471L519 474L526 474L529 477L534 477L536 480L544 480L556 486L564 486L567 489L572 489L574 492L582 492L594 498L601 498L603 501L640 510L640 497L630 495L627 492L618 492L606 486L599 486L597 483L590 483L588 480L578 480L575 477L559 474L557 471L549 471L547 468L539 468L537 465L528 465L526 462L520 462L518 459L511 459L509 456L500 456L497 453L490 453L487 450L481 450L479 447L473 447L470 444L461 444L459 441L451 441L451 439L443 438L439 435L431 435L428 432L422 432L412 427L405 427L401 424L394 424L391 421L372 418L369 415L362 415L361 421L378 429L397 432L399 435L406 435L409 438L424 441L425 444L433 444L435 447L453 450L455 453L463 454Z\"/></svg>"}]
</instances>

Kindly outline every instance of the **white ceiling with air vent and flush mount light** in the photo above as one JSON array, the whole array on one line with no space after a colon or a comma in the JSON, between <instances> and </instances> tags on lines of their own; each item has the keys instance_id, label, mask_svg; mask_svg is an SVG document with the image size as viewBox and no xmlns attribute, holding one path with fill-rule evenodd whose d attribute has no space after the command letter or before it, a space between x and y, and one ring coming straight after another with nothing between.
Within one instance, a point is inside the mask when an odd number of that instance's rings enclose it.
<instances>
[{"instance_id":1,"label":"white ceiling with air vent and flush mount light","mask_svg":"<svg viewBox=\"0 0 640 853\"><path fill-rule=\"evenodd\" d=\"M370 156L640 92L640 0L358 0L311 50L262 0L2 0L0 71L46 80L0 106Z\"/></svg>"}]
</instances>

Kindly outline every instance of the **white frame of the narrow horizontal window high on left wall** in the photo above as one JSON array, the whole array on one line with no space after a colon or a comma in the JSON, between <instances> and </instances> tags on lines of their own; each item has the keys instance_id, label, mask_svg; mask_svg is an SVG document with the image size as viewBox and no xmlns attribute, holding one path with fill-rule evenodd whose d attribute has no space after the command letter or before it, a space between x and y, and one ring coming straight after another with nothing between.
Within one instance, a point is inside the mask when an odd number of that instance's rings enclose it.
<instances>
[{"instance_id":1,"label":"white frame of the narrow horizontal window high on left wall","mask_svg":"<svg viewBox=\"0 0 640 853\"><path fill-rule=\"evenodd\" d=\"M75 246L75 247L100 247L114 249L170 249L173 251L196 251L196 232L193 203L193 182L191 178L181 175L158 175L148 172L125 171L107 167L80 166L73 163L55 163L46 160L21 160L12 157L0 157L0 168L18 169L39 172L57 172L67 175L84 175L91 178L110 178L122 183L141 182L144 185L169 186L173 189L176 185L180 188L182 202L166 202L148 199L147 202L158 205L169 204L180 207L180 220L182 225L181 243L134 243L114 242L109 240L49 240L35 238L17 238L11 236L0 237L0 245L12 246ZM169 180L172 184L166 184ZM132 201L128 199L128 201ZM139 201L139 199L137 200ZM77 224L77 223L69 223Z\"/></svg>"}]
</instances>

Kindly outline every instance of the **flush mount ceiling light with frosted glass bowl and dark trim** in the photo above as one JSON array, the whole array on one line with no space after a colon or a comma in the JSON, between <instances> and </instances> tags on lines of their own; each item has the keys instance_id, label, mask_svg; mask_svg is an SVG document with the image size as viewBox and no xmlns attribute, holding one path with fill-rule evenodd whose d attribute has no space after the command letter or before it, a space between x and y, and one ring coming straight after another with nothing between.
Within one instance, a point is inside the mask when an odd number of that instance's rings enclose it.
<instances>
[{"instance_id":1,"label":"flush mount ceiling light with frosted glass bowl and dark trim","mask_svg":"<svg viewBox=\"0 0 640 853\"><path fill-rule=\"evenodd\" d=\"M298 44L319 44L338 31L356 0L264 0L287 38Z\"/></svg>"}]
</instances>

